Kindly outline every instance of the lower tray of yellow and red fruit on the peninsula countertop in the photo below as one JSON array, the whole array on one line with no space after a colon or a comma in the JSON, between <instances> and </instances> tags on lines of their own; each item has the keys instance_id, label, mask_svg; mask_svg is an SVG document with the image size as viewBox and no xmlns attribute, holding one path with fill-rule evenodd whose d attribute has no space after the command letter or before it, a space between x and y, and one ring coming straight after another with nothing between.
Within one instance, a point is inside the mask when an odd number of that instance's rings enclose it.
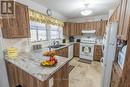
<instances>
[{"instance_id":1,"label":"lower tray of yellow and red fruit on the peninsula countertop","mask_svg":"<svg viewBox=\"0 0 130 87\"><path fill-rule=\"evenodd\" d=\"M50 57L49 60L44 60L41 62L41 66L52 67L57 64L57 59L55 57Z\"/></svg>"}]
</instances>

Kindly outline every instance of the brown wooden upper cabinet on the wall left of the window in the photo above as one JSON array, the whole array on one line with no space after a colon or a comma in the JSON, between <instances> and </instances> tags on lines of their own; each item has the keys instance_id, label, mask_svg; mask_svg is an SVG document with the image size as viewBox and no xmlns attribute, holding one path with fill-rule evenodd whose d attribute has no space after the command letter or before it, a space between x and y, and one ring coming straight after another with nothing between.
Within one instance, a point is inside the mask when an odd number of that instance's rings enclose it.
<instances>
[{"instance_id":1,"label":"brown wooden upper cabinet on the wall left of the window","mask_svg":"<svg viewBox=\"0 0 130 87\"><path fill-rule=\"evenodd\" d=\"M3 18L2 22L2 33L4 38L14 39L30 37L27 6L15 2L15 17Z\"/></svg>"}]
</instances>

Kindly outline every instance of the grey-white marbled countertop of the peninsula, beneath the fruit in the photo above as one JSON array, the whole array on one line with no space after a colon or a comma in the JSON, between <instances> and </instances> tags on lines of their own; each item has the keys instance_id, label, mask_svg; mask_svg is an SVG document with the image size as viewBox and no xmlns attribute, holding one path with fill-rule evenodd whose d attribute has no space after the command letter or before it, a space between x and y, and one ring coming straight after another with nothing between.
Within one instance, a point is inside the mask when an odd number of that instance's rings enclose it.
<instances>
[{"instance_id":1,"label":"grey-white marbled countertop of the peninsula, beneath the fruit","mask_svg":"<svg viewBox=\"0 0 130 87\"><path fill-rule=\"evenodd\" d=\"M5 58L6 61L16 65L20 69L34 76L40 81L47 80L52 74L58 71L66 63L70 61L69 58L56 56L58 63L54 67L43 67L40 63L43 60L49 59L46 56L43 56L43 50L38 50L35 52L20 53L17 59L12 60L8 57Z\"/></svg>"}]
</instances>

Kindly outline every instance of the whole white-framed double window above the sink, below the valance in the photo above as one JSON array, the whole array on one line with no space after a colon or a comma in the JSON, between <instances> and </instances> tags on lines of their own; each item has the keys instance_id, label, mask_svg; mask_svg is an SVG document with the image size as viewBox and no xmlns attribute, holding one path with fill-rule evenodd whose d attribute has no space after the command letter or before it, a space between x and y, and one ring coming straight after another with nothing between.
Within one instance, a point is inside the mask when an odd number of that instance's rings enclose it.
<instances>
[{"instance_id":1,"label":"whole white-framed double window above the sink, below the valance","mask_svg":"<svg viewBox=\"0 0 130 87\"><path fill-rule=\"evenodd\" d=\"M30 22L31 42L43 42L63 37L63 27Z\"/></svg>"}]
</instances>

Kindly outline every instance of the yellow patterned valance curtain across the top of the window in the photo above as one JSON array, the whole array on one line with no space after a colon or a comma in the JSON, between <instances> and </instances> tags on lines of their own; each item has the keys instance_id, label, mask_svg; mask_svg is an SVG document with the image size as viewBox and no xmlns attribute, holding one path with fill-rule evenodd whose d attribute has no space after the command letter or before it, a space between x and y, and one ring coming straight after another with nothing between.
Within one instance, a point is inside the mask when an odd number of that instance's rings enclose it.
<instances>
[{"instance_id":1,"label":"yellow patterned valance curtain across the top of the window","mask_svg":"<svg viewBox=\"0 0 130 87\"><path fill-rule=\"evenodd\" d=\"M53 17L50 17L50 16L47 16L43 13L34 11L32 9L29 9L29 18L30 18L31 21L36 21L36 22L45 23L45 24L57 25L57 26L61 26L61 27L64 26L63 21L56 19L56 18L53 18Z\"/></svg>"}]
</instances>

